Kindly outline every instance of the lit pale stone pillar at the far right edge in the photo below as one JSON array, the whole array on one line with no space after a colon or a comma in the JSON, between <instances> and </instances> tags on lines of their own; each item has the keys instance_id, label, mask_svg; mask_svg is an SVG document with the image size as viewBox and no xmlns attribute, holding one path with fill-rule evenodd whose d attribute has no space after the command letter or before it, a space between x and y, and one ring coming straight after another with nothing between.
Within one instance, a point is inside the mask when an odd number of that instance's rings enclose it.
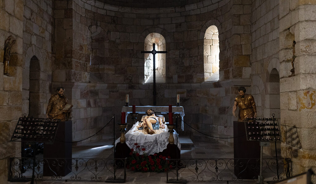
<instances>
[{"instance_id":1,"label":"lit pale stone pillar at the far right edge","mask_svg":"<svg viewBox=\"0 0 316 184\"><path fill-rule=\"evenodd\" d=\"M292 158L293 175L316 166L315 8L312 1L280 1L281 148Z\"/></svg>"}]
</instances>

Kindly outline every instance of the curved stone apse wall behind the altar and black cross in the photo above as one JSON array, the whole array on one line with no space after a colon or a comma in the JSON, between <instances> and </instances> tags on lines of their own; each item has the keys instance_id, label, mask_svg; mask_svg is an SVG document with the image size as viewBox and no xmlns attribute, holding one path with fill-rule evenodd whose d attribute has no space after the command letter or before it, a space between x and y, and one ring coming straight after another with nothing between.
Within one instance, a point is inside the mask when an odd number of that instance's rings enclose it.
<instances>
[{"instance_id":1,"label":"curved stone apse wall behind the altar and black cross","mask_svg":"<svg viewBox=\"0 0 316 184\"><path fill-rule=\"evenodd\" d=\"M168 8L82 0L56 3L59 24L65 26L62 22L72 17L66 39L72 43L71 52L67 52L72 54L73 69L58 69L53 81L71 88L73 140L94 134L114 113L119 115L125 94L129 94L130 104L152 105L153 86L144 84L141 53L149 33L161 34L168 51L166 83L157 85L157 105L175 104L176 94L180 94L185 122L206 134L233 135L231 110L236 86L251 83L251 1L200 1ZM204 83L204 33L212 25L219 31L220 81ZM66 80L60 77L64 75ZM110 130L106 129L104 138L112 136ZM183 134L191 132L187 130L190 128L185 127ZM232 140L224 142L231 144Z\"/></svg>"}]
</instances>

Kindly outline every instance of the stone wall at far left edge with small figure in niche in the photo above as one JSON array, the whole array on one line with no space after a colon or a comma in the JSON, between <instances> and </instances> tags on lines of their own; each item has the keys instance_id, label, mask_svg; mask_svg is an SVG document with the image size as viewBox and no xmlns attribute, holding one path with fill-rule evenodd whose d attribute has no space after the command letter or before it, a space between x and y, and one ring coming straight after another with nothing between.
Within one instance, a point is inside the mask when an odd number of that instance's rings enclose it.
<instances>
[{"instance_id":1,"label":"stone wall at far left edge with small figure in niche","mask_svg":"<svg viewBox=\"0 0 316 184\"><path fill-rule=\"evenodd\" d=\"M0 181L7 181L9 157L20 156L21 143L10 142L22 114L23 1L0 1ZM3 75L5 40L13 36L9 75Z\"/></svg>"}]
</instances>

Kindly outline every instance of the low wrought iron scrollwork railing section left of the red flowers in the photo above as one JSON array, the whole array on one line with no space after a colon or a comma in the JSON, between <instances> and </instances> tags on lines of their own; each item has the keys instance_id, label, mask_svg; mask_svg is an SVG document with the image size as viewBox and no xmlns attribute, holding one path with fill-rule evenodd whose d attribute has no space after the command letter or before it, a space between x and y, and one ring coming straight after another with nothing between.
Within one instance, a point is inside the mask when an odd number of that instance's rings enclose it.
<instances>
[{"instance_id":1,"label":"low wrought iron scrollwork railing section left of the red flowers","mask_svg":"<svg viewBox=\"0 0 316 184\"><path fill-rule=\"evenodd\" d=\"M32 178L33 158L10 158L9 181L28 181ZM36 181L126 181L125 159L96 158L36 158Z\"/></svg>"}]
</instances>

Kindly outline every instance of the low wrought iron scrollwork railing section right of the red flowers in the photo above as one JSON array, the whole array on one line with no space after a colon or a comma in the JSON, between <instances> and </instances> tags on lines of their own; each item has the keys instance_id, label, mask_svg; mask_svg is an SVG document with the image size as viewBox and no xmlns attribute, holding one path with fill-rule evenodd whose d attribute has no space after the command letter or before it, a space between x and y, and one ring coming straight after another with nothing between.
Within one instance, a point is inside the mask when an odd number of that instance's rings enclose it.
<instances>
[{"instance_id":1,"label":"low wrought iron scrollwork railing section right of the red flowers","mask_svg":"<svg viewBox=\"0 0 316 184\"><path fill-rule=\"evenodd\" d=\"M258 181L260 159L169 159L167 183ZM172 169L170 169L172 168ZM279 175L277 175L279 173ZM263 158L264 181L278 181L290 176L291 162L287 158Z\"/></svg>"}]
</instances>

